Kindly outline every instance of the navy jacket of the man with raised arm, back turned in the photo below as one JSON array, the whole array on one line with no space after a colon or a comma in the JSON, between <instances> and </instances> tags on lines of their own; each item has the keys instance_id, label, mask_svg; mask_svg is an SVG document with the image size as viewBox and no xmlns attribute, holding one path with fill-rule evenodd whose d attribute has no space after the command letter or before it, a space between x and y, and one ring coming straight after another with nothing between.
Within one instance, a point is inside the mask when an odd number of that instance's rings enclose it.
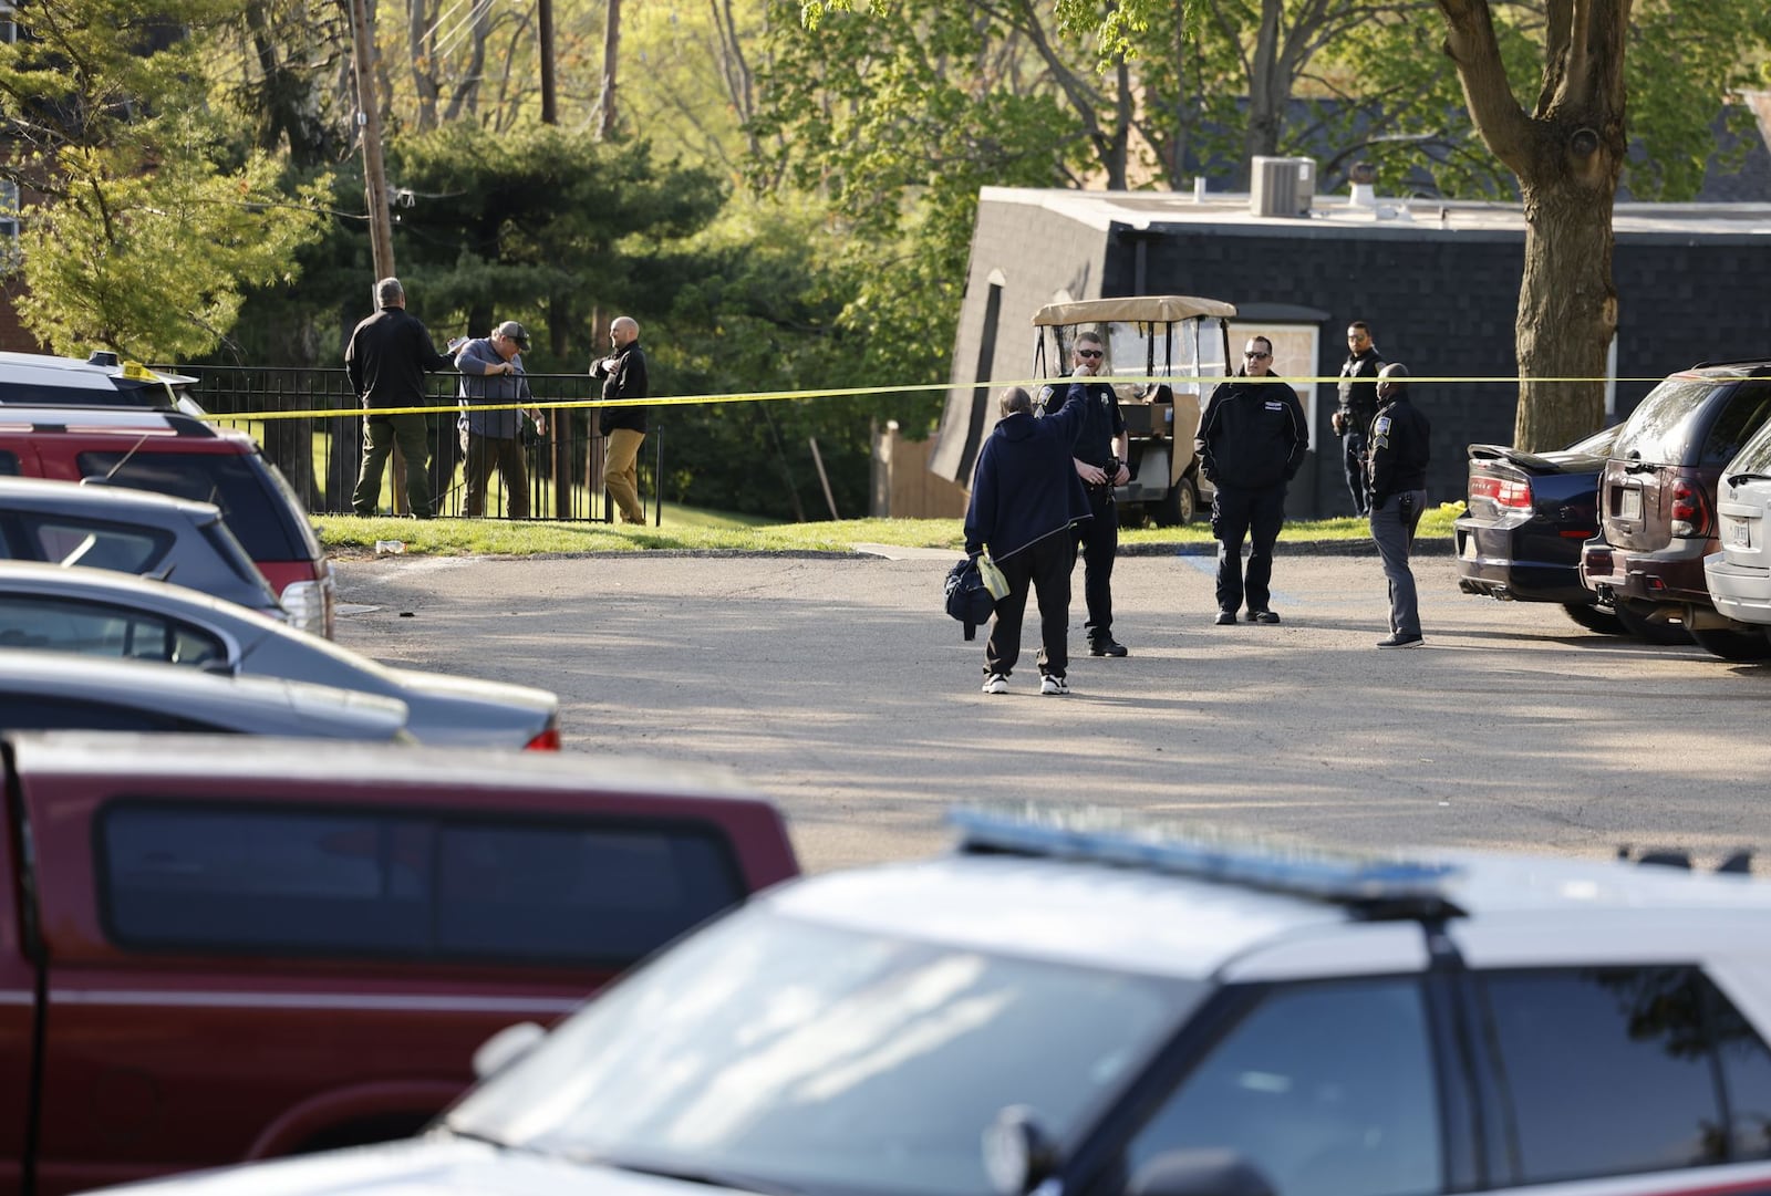
<instances>
[{"instance_id":1,"label":"navy jacket of the man with raised arm, back turned","mask_svg":"<svg viewBox=\"0 0 1771 1196\"><path fill-rule=\"evenodd\" d=\"M1064 405L1043 419L1020 410L997 421L972 474L972 502L965 510L967 556L988 545L992 561L1006 561L1093 518L1071 460L1086 410L1082 387L1075 387Z\"/></svg>"}]
</instances>

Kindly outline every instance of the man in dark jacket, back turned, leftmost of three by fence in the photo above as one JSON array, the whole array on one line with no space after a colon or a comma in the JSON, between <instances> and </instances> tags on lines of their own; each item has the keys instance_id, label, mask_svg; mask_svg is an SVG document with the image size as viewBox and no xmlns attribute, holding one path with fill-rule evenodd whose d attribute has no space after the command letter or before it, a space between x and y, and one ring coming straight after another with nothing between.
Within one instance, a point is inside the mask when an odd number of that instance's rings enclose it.
<instances>
[{"instance_id":1,"label":"man in dark jacket, back turned, leftmost of three by fence","mask_svg":"<svg viewBox=\"0 0 1771 1196\"><path fill-rule=\"evenodd\" d=\"M398 278L375 283L375 315L351 333L344 370L351 389L363 400L363 469L351 494L351 510L375 515L381 504L381 474L388 455L400 446L406 458L406 504L413 517L430 518L429 425L423 414L388 409L423 407L425 373L455 363L430 343L430 333L406 313L406 288Z\"/></svg>"}]
</instances>

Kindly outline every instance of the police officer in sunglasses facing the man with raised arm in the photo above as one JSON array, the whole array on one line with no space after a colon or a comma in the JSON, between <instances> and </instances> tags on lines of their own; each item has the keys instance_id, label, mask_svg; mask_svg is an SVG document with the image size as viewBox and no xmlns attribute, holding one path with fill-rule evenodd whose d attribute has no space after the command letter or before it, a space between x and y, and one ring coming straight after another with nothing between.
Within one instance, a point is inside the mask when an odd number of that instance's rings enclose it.
<instances>
[{"instance_id":1,"label":"police officer in sunglasses facing the man with raised arm","mask_svg":"<svg viewBox=\"0 0 1771 1196\"><path fill-rule=\"evenodd\" d=\"M1112 384L1094 379L1105 363L1102 338L1094 333L1080 333L1075 347L1075 380L1059 391L1056 386L1040 389L1036 412L1057 414L1063 398L1068 402L1075 395L1087 400L1087 416L1082 432L1077 433L1075 467L1077 476L1089 494L1089 513L1093 518L1077 524L1077 545L1082 550L1082 598L1089 609L1084 628L1089 637L1091 656L1125 656L1126 648L1112 637L1112 563L1119 556L1119 506L1112 499L1112 488L1132 479L1125 465L1130 446L1125 432L1125 416L1119 412L1119 396ZM1093 380L1091 380L1093 379Z\"/></svg>"}]
</instances>

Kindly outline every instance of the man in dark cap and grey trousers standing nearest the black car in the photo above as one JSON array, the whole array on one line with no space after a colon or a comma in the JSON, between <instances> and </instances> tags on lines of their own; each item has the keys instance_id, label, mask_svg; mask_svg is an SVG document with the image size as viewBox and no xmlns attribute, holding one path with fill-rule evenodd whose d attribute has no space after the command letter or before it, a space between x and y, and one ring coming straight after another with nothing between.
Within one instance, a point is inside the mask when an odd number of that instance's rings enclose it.
<instances>
[{"instance_id":1,"label":"man in dark cap and grey trousers standing nearest the black car","mask_svg":"<svg viewBox=\"0 0 1771 1196\"><path fill-rule=\"evenodd\" d=\"M1427 462L1433 426L1408 402L1408 366L1387 364L1378 373L1378 409L1371 421L1371 538L1390 582L1390 635L1378 648L1419 648L1420 600L1408 548L1427 510Z\"/></svg>"}]
</instances>

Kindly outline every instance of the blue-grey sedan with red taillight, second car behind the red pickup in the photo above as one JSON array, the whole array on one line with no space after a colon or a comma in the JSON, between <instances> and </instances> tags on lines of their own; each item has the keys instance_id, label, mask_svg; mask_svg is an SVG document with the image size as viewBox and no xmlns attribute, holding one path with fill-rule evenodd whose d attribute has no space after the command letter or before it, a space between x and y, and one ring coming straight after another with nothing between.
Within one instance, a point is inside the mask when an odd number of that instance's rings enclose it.
<instances>
[{"instance_id":1,"label":"blue-grey sedan with red taillight, second car behind the red pickup","mask_svg":"<svg viewBox=\"0 0 1771 1196\"><path fill-rule=\"evenodd\" d=\"M545 690L390 669L257 610L104 570L0 563L0 648L133 656L397 697L423 743L560 748Z\"/></svg>"}]
</instances>

